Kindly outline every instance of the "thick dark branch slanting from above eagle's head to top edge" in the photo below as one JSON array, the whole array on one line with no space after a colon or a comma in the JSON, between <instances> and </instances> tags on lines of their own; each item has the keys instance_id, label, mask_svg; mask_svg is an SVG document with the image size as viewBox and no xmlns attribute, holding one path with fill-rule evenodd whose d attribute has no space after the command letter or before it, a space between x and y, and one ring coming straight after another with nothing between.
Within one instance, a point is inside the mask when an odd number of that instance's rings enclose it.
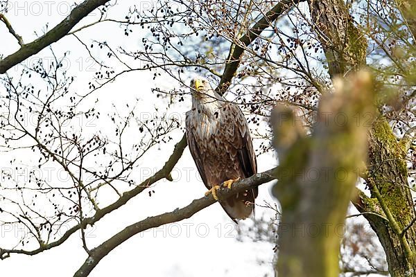
<instances>
[{"instance_id":1,"label":"thick dark branch slanting from above eagle's head to top edge","mask_svg":"<svg viewBox=\"0 0 416 277\"><path fill-rule=\"evenodd\" d=\"M257 21L256 24L241 37L241 39L239 39L239 44L232 44L229 51L229 57L227 57L227 63L225 64L223 76L221 77L220 84L218 84L218 87L216 88L218 93L223 94L229 88L231 80L239 68L244 48L254 42L254 39L259 37L261 32L268 28L277 17L292 8L295 3L303 1L306 0L281 0L276 6L269 10L264 17L259 19L259 21Z\"/></svg>"}]
</instances>

